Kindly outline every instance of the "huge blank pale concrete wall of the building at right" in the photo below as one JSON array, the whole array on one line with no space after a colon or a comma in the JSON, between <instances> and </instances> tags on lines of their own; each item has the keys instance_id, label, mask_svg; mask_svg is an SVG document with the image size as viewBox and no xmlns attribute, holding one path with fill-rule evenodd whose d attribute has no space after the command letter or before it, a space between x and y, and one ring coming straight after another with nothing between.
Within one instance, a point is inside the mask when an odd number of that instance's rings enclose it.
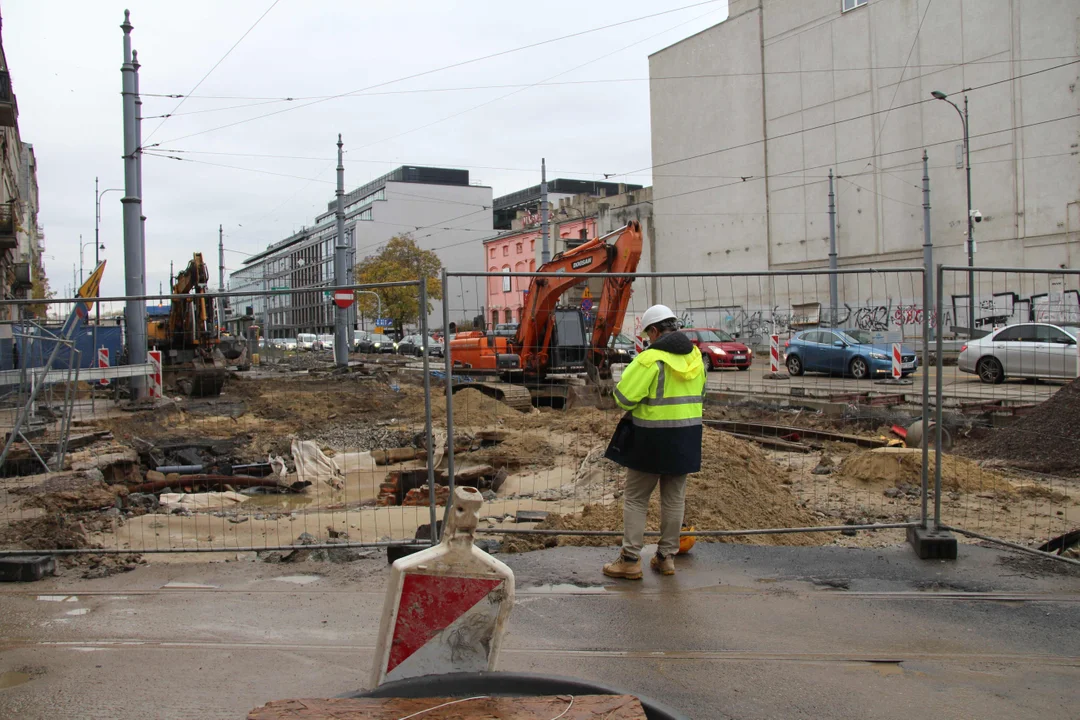
<instances>
[{"instance_id":1,"label":"huge blank pale concrete wall of the building at right","mask_svg":"<svg viewBox=\"0 0 1080 720\"><path fill-rule=\"evenodd\" d=\"M843 176L841 267L921 264L923 147L935 261L966 262L962 126L945 103L920 103L941 90L962 107L966 87L972 203L985 218L976 264L1077 267L1080 118L1045 121L1080 110L1080 66L999 81L1066 63L1078 49L1076 0L870 0L843 14L840 0L732 2L729 19L650 57L658 269L827 266L831 167ZM750 74L659 79L704 73ZM732 149L679 161L723 148ZM841 295L858 297L854 282ZM1037 284L1002 275L976 295L1027 296ZM961 276L945 293L964 288Z\"/></svg>"}]
</instances>

